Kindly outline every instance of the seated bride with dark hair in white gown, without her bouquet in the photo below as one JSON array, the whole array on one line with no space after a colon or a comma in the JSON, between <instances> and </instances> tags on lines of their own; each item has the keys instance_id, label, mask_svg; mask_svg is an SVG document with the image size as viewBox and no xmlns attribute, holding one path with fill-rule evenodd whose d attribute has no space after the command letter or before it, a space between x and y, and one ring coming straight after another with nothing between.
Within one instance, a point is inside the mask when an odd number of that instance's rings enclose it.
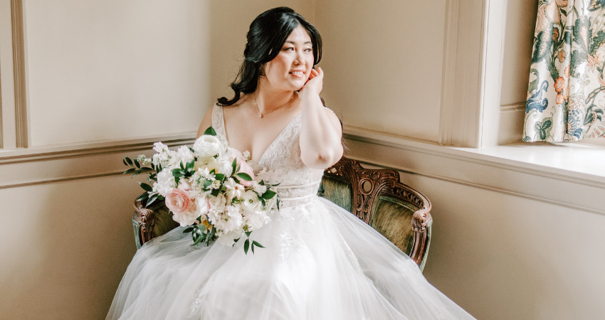
<instances>
[{"instance_id":1,"label":"seated bride with dark hair in white gown, without her bouquet","mask_svg":"<svg viewBox=\"0 0 605 320\"><path fill-rule=\"evenodd\" d=\"M280 210L251 238L254 255L191 246L176 228L132 259L107 319L473 319L438 292L404 252L351 213L318 198L323 169L342 156L341 126L320 99L321 38L292 9L251 23L231 88L201 122L255 174L280 183Z\"/></svg>"}]
</instances>

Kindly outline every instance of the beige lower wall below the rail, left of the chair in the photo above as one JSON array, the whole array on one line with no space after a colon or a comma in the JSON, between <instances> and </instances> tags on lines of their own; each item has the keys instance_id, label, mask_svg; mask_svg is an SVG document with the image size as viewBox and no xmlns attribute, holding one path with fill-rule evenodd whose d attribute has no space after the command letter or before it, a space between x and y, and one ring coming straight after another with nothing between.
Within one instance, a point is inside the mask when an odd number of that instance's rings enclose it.
<instances>
[{"instance_id":1,"label":"beige lower wall below the rail, left of the chair","mask_svg":"<svg viewBox=\"0 0 605 320\"><path fill-rule=\"evenodd\" d=\"M0 189L0 319L105 319L136 246L127 176Z\"/></svg>"}]
</instances>

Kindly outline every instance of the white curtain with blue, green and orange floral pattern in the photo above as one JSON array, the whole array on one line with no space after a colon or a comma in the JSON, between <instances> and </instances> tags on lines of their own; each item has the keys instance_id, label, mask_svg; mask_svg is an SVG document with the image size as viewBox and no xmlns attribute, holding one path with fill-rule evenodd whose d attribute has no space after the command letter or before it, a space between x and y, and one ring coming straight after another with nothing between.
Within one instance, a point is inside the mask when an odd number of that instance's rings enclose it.
<instances>
[{"instance_id":1,"label":"white curtain with blue, green and orange floral pattern","mask_svg":"<svg viewBox=\"0 0 605 320\"><path fill-rule=\"evenodd\" d=\"M605 0L540 0L523 141L605 137Z\"/></svg>"}]
</instances>

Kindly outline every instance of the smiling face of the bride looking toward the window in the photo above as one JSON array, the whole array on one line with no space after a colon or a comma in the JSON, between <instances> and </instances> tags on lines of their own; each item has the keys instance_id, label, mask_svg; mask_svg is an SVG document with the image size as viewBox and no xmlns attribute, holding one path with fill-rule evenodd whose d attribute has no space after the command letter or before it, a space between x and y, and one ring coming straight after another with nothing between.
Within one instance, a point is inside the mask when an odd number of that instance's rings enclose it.
<instances>
[{"instance_id":1,"label":"smiling face of the bride looking toward the window","mask_svg":"<svg viewBox=\"0 0 605 320\"><path fill-rule=\"evenodd\" d=\"M313 68L313 46L309 33L296 27L283 44L280 53L265 63L265 79L275 90L300 90Z\"/></svg>"}]
</instances>

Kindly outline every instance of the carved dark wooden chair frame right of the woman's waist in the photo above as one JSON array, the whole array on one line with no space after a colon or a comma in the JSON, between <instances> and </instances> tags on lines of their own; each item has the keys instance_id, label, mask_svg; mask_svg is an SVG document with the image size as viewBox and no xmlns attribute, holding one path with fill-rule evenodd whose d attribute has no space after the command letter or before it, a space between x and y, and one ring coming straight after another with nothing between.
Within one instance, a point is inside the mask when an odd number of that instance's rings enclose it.
<instances>
[{"instance_id":1,"label":"carved dark wooden chair frame right of the woman's waist","mask_svg":"<svg viewBox=\"0 0 605 320\"><path fill-rule=\"evenodd\" d=\"M359 162L344 156L335 165L325 169L326 176L344 178L351 182L352 213L357 218L369 224L374 201L378 196L386 194L399 198L408 203L414 203L420 208L412 215L412 230L414 240L410 257L420 265L424 252L428 249L427 226L431 223L431 201L419 191L399 182L399 172L392 169L364 169ZM367 186L364 188L364 184Z\"/></svg>"}]
</instances>

